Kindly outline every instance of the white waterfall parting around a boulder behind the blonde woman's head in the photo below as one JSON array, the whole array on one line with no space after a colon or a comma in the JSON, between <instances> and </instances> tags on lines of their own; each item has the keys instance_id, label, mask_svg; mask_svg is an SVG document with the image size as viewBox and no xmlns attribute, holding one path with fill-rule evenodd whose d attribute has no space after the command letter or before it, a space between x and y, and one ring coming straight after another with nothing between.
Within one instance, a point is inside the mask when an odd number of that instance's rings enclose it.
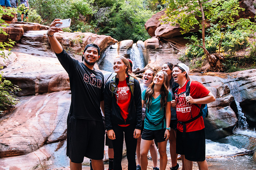
<instances>
[{"instance_id":1,"label":"white waterfall parting around a boulder behind the blonde woman's head","mask_svg":"<svg viewBox=\"0 0 256 170\"><path fill-rule=\"evenodd\" d=\"M144 68L146 63L143 53L140 52L136 44L132 45L129 49L116 49L109 46L101 55L98 61L98 66L101 70L113 72L113 62L117 56L130 58L133 61L132 69Z\"/></svg>"}]
</instances>

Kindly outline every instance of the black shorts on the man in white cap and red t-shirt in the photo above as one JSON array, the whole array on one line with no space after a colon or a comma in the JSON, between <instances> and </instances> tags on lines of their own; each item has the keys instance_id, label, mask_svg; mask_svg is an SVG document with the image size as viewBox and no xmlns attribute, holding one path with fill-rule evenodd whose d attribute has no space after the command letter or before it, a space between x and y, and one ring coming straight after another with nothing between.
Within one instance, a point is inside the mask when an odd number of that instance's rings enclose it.
<instances>
[{"instance_id":1,"label":"black shorts on the man in white cap and red t-shirt","mask_svg":"<svg viewBox=\"0 0 256 170\"><path fill-rule=\"evenodd\" d=\"M185 155L190 161L201 162L205 160L205 134L200 131L186 132L186 138L181 131L176 133L176 153Z\"/></svg>"}]
</instances>

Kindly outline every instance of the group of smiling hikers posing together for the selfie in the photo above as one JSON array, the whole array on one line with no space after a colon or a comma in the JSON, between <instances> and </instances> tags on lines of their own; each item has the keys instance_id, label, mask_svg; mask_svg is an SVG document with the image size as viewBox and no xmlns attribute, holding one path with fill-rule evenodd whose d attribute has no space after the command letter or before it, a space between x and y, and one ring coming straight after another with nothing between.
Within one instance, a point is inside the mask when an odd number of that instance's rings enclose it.
<instances>
[{"instance_id":1,"label":"group of smiling hikers posing together for the selfie","mask_svg":"<svg viewBox=\"0 0 256 170\"><path fill-rule=\"evenodd\" d=\"M99 46L86 45L82 62L71 58L54 36L54 33L62 31L56 24L62 24L60 19L52 22L47 36L70 80L67 156L71 170L81 170L84 157L92 159L93 170L104 169L105 128L109 170L122 169L124 140L128 170L146 170L148 150L153 159L153 169L159 169L156 144L160 170L164 170L167 165L168 139L171 170L180 168L178 154L181 155L182 170L192 170L193 161L198 163L200 170L208 169L203 118L196 118L189 123L186 121L199 114L198 105L213 102L215 97L201 83L190 81L188 66L167 62L157 73L149 68L144 72L143 84L140 84L130 74L132 61L118 56L113 61L115 74L103 75L94 68L100 58ZM104 82L105 79L108 81ZM189 95L187 84L190 87Z\"/></svg>"}]
</instances>

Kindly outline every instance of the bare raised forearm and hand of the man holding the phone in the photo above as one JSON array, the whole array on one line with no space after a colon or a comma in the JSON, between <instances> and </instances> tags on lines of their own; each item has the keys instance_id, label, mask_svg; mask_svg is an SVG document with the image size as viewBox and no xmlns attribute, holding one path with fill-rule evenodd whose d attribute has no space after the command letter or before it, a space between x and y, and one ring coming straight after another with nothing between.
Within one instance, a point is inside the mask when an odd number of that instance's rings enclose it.
<instances>
[{"instance_id":1,"label":"bare raised forearm and hand of the man holding the phone","mask_svg":"<svg viewBox=\"0 0 256 170\"><path fill-rule=\"evenodd\" d=\"M62 22L60 22L61 19L54 19L54 21L52 21L52 24L50 25L50 28L48 30L48 35L53 35L55 32L59 32L62 31L62 29L55 27L56 24L62 24ZM50 44L52 46L52 49L55 53L59 54L62 52L62 46L60 44L60 42L56 39L56 37L52 36L48 36Z\"/></svg>"}]
</instances>

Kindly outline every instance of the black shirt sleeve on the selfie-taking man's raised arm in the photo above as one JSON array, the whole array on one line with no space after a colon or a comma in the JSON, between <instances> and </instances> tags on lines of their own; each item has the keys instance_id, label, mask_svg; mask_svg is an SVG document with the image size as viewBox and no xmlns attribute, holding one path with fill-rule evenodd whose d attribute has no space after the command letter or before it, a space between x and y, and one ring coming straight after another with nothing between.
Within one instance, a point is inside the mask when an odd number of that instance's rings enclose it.
<instances>
[{"instance_id":1,"label":"black shirt sleeve on the selfie-taking man's raised arm","mask_svg":"<svg viewBox=\"0 0 256 170\"><path fill-rule=\"evenodd\" d=\"M60 61L60 64L68 74L70 74L70 71L72 70L72 68L76 68L75 59L71 58L64 49L62 50L61 53L59 54L55 53L55 54L58 60Z\"/></svg>"}]
</instances>

